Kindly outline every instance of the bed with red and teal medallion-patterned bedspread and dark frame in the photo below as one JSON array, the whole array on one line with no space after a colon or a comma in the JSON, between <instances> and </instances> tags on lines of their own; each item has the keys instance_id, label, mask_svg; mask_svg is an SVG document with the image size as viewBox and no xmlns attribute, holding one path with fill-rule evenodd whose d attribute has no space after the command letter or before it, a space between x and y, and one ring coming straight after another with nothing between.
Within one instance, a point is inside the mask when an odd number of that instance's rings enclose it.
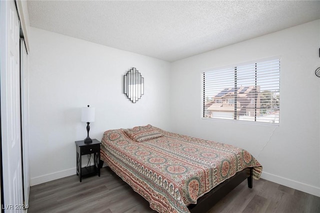
<instances>
[{"instance_id":1,"label":"bed with red and teal medallion-patterned bedspread and dark frame","mask_svg":"<svg viewBox=\"0 0 320 213\"><path fill-rule=\"evenodd\" d=\"M262 166L232 145L164 131L150 124L103 133L104 161L158 212L204 212Z\"/></svg>"}]
</instances>

